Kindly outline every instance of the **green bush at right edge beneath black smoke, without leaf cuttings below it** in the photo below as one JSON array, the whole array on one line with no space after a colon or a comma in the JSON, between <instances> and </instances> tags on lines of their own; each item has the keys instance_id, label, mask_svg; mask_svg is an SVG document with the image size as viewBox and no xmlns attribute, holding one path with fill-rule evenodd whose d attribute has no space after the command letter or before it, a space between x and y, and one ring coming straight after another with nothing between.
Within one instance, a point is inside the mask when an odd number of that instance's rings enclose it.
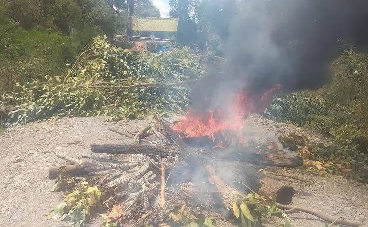
<instances>
[{"instance_id":1,"label":"green bush at right edge beneath black smoke, without leaf cuttings below it","mask_svg":"<svg viewBox=\"0 0 368 227\"><path fill-rule=\"evenodd\" d=\"M336 143L368 152L368 56L344 51L331 66L333 75L327 86L276 98L265 115L320 129Z\"/></svg>"}]
</instances>

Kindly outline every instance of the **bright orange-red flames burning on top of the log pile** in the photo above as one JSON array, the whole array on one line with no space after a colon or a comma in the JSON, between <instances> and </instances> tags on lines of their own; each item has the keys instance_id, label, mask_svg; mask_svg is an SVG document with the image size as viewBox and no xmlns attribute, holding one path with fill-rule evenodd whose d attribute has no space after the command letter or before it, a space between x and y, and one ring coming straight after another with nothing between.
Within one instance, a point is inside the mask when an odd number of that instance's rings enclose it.
<instances>
[{"instance_id":1,"label":"bright orange-red flames burning on top of the log pile","mask_svg":"<svg viewBox=\"0 0 368 227\"><path fill-rule=\"evenodd\" d=\"M247 89L240 89L233 95L232 100L234 101L224 103L214 110L189 109L185 116L173 126L173 129L187 137L208 136L213 141L217 140L219 134L227 131L238 132L241 136L245 124L244 116L263 112L268 105L269 95L280 88L280 84L276 84L261 95L250 95ZM222 144L224 141L218 142Z\"/></svg>"}]
</instances>

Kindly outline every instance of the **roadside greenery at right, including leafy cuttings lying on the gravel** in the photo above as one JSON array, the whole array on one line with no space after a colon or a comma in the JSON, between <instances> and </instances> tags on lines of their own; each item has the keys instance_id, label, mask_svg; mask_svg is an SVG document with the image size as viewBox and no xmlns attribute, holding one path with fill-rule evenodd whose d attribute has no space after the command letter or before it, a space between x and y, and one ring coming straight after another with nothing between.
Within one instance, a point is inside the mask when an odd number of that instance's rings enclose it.
<instances>
[{"instance_id":1,"label":"roadside greenery at right, including leafy cuttings lying on the gravel","mask_svg":"<svg viewBox=\"0 0 368 227\"><path fill-rule=\"evenodd\" d=\"M275 98L267 108L268 118L320 130L332 145L308 146L314 160L327 163L330 172L349 172L368 180L368 56L345 51L331 64L330 83L309 92L294 92Z\"/></svg>"}]
</instances>

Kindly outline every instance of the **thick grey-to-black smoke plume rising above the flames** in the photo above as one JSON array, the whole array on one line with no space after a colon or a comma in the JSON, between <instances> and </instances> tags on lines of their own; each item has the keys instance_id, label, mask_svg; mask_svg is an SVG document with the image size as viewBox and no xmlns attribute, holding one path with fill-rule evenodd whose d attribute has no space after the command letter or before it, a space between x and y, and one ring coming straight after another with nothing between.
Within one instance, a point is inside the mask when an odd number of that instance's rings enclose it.
<instances>
[{"instance_id":1,"label":"thick grey-to-black smoke plume rising above the flames","mask_svg":"<svg viewBox=\"0 0 368 227\"><path fill-rule=\"evenodd\" d=\"M226 103L247 87L262 94L275 83L284 92L316 89L329 80L329 62L344 44L368 44L366 0L248 0L232 19L222 73L192 91L194 109Z\"/></svg>"}]
</instances>

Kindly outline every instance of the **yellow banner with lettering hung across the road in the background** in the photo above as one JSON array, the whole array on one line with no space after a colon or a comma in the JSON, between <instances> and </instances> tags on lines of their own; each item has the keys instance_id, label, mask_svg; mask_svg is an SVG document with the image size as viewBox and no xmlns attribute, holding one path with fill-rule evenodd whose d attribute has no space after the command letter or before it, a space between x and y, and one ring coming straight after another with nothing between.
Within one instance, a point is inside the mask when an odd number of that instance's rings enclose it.
<instances>
[{"instance_id":1,"label":"yellow banner with lettering hung across the road in the background","mask_svg":"<svg viewBox=\"0 0 368 227\"><path fill-rule=\"evenodd\" d=\"M178 18L132 17L134 31L176 32Z\"/></svg>"}]
</instances>

